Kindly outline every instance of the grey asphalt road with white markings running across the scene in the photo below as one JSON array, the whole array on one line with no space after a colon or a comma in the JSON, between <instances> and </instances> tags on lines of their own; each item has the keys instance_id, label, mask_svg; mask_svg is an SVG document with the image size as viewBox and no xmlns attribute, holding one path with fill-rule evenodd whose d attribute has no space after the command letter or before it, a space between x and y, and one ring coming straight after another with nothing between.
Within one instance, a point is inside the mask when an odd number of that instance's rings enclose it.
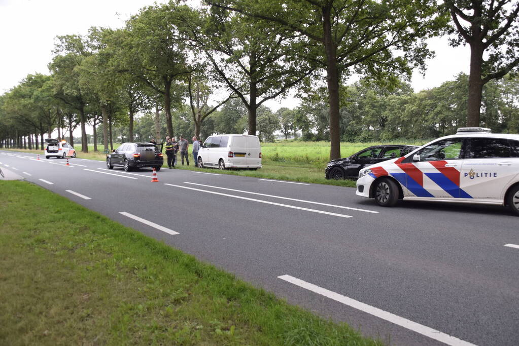
<instances>
[{"instance_id":1,"label":"grey asphalt road with white markings running across the scene","mask_svg":"<svg viewBox=\"0 0 519 346\"><path fill-rule=\"evenodd\" d=\"M504 207L381 208L352 188L217 170L162 169L152 183L150 168L127 173L81 158L66 166L6 151L0 163L366 336L519 344L519 218Z\"/></svg>"}]
</instances>

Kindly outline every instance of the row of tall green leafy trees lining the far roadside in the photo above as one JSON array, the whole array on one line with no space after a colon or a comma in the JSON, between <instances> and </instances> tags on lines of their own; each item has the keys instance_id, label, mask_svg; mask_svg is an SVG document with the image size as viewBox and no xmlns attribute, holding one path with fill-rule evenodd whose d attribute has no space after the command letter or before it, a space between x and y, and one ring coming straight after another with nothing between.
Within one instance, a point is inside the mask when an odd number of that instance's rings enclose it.
<instances>
[{"instance_id":1,"label":"row of tall green leafy trees lining the far roadside","mask_svg":"<svg viewBox=\"0 0 519 346\"><path fill-rule=\"evenodd\" d=\"M37 146L38 135L43 142L44 133L57 128L61 137L65 128L72 134L80 126L81 150L87 152L90 123L94 138L102 132L106 150L114 125L126 125L128 140L135 138L134 117L141 112L154 114L153 137L162 137L162 120L169 136L182 121L192 122L199 136L209 121L218 131L215 114L229 99L247 114L237 128L268 138L265 128L275 128L282 116L262 106L297 88L305 103L295 114L326 119L324 126L312 120L301 129L328 136L330 157L336 158L340 139L357 138L358 129L387 138L390 128L400 128L381 121L385 116L351 111L348 97L354 92L341 85L360 74L385 97L400 88L397 76L425 68L432 55L425 39L446 32L457 33L454 46L471 47L465 119L479 125L483 85L519 65L518 11L507 0L207 0L196 9L181 2L156 4L124 28L59 36L51 75L29 75L0 97L0 138ZM387 112L384 103L379 106L374 114ZM366 124L370 119L378 122ZM444 127L440 121L431 126ZM415 127L418 134L423 126Z\"/></svg>"}]
</instances>

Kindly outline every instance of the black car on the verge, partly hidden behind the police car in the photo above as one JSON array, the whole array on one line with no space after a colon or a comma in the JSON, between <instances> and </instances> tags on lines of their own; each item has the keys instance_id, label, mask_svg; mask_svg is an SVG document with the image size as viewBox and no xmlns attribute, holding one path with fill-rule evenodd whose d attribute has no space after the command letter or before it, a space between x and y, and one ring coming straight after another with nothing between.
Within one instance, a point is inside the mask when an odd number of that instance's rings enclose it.
<instances>
[{"instance_id":1,"label":"black car on the verge, partly hidden behind the police car","mask_svg":"<svg viewBox=\"0 0 519 346\"><path fill-rule=\"evenodd\" d=\"M406 145L373 146L359 151L346 158L332 160L324 170L326 179L357 179L359 171L366 167L390 158L402 157L418 148Z\"/></svg>"}]
</instances>

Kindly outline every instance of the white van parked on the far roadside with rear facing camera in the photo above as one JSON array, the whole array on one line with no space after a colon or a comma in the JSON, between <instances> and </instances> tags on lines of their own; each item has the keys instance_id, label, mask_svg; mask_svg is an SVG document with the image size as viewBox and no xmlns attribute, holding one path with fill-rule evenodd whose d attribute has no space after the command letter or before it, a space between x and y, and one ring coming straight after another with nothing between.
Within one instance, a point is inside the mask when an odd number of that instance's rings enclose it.
<instances>
[{"instance_id":1,"label":"white van parked on the far roadside with rear facing camera","mask_svg":"<svg viewBox=\"0 0 519 346\"><path fill-rule=\"evenodd\" d=\"M209 136L198 150L198 167L261 168L260 139L251 135Z\"/></svg>"}]
</instances>

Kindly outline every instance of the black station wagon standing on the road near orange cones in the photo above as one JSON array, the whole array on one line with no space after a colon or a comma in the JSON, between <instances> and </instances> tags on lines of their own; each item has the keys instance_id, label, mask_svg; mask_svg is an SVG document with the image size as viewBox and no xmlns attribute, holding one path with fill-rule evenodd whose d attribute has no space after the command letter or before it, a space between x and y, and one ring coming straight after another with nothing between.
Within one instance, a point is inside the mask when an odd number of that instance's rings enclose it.
<instances>
[{"instance_id":1,"label":"black station wagon standing on the road near orange cones","mask_svg":"<svg viewBox=\"0 0 519 346\"><path fill-rule=\"evenodd\" d=\"M125 171L133 168L155 167L160 170L164 158L153 143L122 143L106 156L106 168L122 166Z\"/></svg>"}]
</instances>

